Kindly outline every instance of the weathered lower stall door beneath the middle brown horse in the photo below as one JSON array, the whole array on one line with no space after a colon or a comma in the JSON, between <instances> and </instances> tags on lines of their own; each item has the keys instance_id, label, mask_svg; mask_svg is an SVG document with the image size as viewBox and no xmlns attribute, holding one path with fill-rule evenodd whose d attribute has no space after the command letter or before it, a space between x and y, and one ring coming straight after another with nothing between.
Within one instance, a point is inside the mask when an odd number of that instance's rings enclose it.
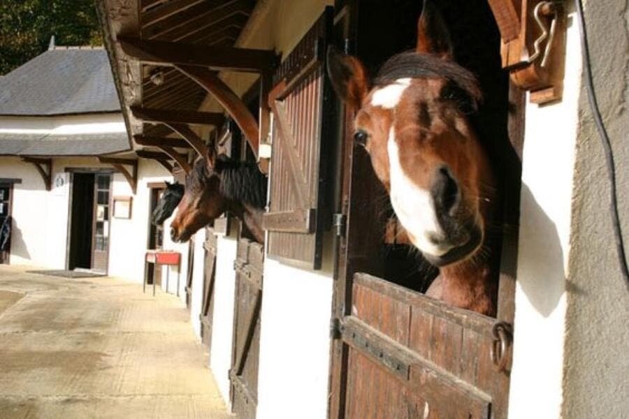
<instances>
[{"instance_id":1,"label":"weathered lower stall door beneath the middle brown horse","mask_svg":"<svg viewBox=\"0 0 629 419\"><path fill-rule=\"evenodd\" d=\"M258 357L264 248L241 238L238 241L236 300L234 302L233 353L229 372L231 406L240 419L253 419L258 404Z\"/></svg>"}]
</instances>

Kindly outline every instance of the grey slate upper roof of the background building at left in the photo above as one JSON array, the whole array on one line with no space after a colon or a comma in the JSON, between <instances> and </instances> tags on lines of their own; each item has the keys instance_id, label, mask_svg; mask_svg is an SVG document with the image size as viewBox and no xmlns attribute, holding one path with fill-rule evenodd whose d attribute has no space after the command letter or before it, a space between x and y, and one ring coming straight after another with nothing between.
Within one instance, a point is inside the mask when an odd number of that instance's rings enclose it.
<instances>
[{"instance_id":1,"label":"grey slate upper roof of the background building at left","mask_svg":"<svg viewBox=\"0 0 629 419\"><path fill-rule=\"evenodd\" d=\"M0 115L120 111L107 52L54 49L0 77Z\"/></svg>"}]
</instances>

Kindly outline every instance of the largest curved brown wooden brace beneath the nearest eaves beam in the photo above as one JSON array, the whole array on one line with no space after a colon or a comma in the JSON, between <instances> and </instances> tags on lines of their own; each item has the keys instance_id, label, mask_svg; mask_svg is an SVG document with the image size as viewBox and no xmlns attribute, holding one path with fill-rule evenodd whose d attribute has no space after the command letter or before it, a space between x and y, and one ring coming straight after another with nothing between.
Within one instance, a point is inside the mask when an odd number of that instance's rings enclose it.
<instances>
[{"instance_id":1,"label":"largest curved brown wooden brace beneath the nearest eaves beam","mask_svg":"<svg viewBox=\"0 0 629 419\"><path fill-rule=\"evenodd\" d=\"M214 71L196 66L177 66L177 68L215 97L217 102L240 127L240 131L243 131L257 159L259 144L258 123L247 108L247 105L240 100L238 95Z\"/></svg>"}]
</instances>

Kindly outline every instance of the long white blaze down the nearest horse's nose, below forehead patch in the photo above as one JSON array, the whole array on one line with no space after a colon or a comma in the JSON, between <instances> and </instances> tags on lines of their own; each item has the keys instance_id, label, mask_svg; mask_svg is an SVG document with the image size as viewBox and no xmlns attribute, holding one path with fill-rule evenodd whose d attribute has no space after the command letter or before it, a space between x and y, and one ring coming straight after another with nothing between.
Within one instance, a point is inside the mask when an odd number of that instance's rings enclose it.
<instances>
[{"instance_id":1,"label":"long white blaze down the nearest horse's nose, below forehead patch","mask_svg":"<svg viewBox=\"0 0 629 419\"><path fill-rule=\"evenodd\" d=\"M414 237L413 244L421 251L433 256L442 256L451 247L437 246L428 241L428 234L442 236L442 229L435 214L430 191L422 189L407 177L400 164L395 129L391 127L386 144L389 151L391 173L391 204L400 223Z\"/></svg>"}]
</instances>

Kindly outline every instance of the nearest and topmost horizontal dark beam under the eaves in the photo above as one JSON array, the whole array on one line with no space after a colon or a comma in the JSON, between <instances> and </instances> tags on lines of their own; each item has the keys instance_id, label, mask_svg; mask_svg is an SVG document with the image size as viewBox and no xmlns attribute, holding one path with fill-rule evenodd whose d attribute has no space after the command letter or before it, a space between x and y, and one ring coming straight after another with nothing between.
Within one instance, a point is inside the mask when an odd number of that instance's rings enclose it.
<instances>
[{"instance_id":1,"label":"nearest and topmost horizontal dark beam under the eaves","mask_svg":"<svg viewBox=\"0 0 629 419\"><path fill-rule=\"evenodd\" d=\"M258 73L272 68L277 61L275 52L271 50L148 41L131 37L119 37L118 42L127 57L159 65L202 66Z\"/></svg>"}]
</instances>

